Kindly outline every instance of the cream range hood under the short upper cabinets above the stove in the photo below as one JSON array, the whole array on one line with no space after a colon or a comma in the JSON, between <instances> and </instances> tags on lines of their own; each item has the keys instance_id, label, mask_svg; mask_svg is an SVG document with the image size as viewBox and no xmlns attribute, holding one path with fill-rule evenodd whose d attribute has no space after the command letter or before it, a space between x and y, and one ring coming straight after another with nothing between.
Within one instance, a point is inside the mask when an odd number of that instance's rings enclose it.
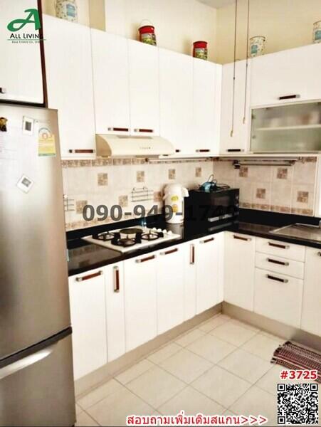
<instances>
[{"instance_id":1,"label":"cream range hood under the short upper cabinets above the stove","mask_svg":"<svg viewBox=\"0 0 321 427\"><path fill-rule=\"evenodd\" d=\"M100 157L156 157L175 153L167 139L154 136L96 135L96 148Z\"/></svg>"}]
</instances>

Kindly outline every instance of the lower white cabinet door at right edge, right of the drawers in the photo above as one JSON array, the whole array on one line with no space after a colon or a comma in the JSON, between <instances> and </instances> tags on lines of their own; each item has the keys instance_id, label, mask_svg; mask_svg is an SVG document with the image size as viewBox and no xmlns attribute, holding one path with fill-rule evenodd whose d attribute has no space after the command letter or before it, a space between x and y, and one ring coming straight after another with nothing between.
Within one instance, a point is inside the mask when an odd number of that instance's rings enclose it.
<instances>
[{"instance_id":1,"label":"lower white cabinet door at right edge, right of the drawers","mask_svg":"<svg viewBox=\"0 0 321 427\"><path fill-rule=\"evenodd\" d=\"M321 251L306 248L301 329L321 336Z\"/></svg>"}]
</instances>

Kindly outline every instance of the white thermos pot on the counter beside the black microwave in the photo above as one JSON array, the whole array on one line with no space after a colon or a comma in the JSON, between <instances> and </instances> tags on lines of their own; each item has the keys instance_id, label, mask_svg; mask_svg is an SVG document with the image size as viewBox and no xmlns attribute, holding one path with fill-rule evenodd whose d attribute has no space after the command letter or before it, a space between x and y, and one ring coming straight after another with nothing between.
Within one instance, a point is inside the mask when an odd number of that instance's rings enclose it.
<instances>
[{"instance_id":1,"label":"white thermos pot on the counter beside the black microwave","mask_svg":"<svg viewBox=\"0 0 321 427\"><path fill-rule=\"evenodd\" d=\"M164 188L165 218L169 224L179 224L184 221L184 197L189 191L181 184L168 184Z\"/></svg>"}]
</instances>

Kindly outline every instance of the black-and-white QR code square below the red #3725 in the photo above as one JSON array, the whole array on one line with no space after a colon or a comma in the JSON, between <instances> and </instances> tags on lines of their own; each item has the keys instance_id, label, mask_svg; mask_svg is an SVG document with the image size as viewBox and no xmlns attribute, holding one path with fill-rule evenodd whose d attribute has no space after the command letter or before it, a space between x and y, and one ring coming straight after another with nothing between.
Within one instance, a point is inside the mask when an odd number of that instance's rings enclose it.
<instances>
[{"instance_id":1,"label":"black-and-white QR code square below the red #3725","mask_svg":"<svg viewBox=\"0 0 321 427\"><path fill-rule=\"evenodd\" d=\"M278 384L278 424L319 422L318 384Z\"/></svg>"}]
</instances>

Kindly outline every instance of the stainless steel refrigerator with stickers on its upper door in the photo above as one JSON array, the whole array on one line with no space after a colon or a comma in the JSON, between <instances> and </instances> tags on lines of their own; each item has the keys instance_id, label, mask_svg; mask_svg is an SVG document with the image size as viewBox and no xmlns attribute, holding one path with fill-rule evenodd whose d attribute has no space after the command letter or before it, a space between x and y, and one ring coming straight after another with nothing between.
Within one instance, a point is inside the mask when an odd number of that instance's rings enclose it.
<instances>
[{"instance_id":1,"label":"stainless steel refrigerator with stickers on its upper door","mask_svg":"<svg viewBox=\"0 0 321 427\"><path fill-rule=\"evenodd\" d=\"M0 426L73 426L56 110L0 105Z\"/></svg>"}]
</instances>

